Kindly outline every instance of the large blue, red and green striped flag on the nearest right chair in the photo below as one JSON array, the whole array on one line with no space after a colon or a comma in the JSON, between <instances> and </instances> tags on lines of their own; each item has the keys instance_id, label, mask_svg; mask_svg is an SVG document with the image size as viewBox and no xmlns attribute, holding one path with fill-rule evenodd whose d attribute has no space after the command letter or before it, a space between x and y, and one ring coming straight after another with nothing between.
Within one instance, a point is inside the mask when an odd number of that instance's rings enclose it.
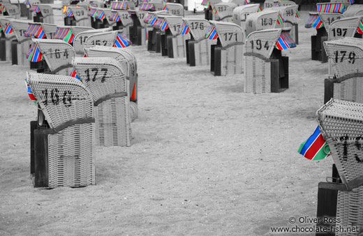
<instances>
[{"instance_id":1,"label":"large blue, red and green striped flag on the nearest right chair","mask_svg":"<svg viewBox=\"0 0 363 236\"><path fill-rule=\"evenodd\" d=\"M330 155L330 149L327 142L324 140L323 135L321 135L319 126L316 127L315 132L311 135L308 140L300 145L297 151L302 156L305 156L309 160L322 160Z\"/></svg>"}]
</instances>

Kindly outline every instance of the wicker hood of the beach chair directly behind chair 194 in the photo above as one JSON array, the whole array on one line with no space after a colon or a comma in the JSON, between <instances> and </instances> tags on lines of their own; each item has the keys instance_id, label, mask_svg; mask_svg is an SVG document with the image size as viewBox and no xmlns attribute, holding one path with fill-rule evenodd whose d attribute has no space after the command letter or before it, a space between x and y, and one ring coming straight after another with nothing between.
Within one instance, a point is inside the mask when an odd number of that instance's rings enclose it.
<instances>
[{"instance_id":1,"label":"wicker hood of the beach chair directly behind chair 194","mask_svg":"<svg viewBox=\"0 0 363 236\"><path fill-rule=\"evenodd\" d=\"M253 13L247 16L246 20L246 35L251 34L253 31L263 29L274 29L279 17L278 10L266 9L260 13Z\"/></svg>"}]
</instances>

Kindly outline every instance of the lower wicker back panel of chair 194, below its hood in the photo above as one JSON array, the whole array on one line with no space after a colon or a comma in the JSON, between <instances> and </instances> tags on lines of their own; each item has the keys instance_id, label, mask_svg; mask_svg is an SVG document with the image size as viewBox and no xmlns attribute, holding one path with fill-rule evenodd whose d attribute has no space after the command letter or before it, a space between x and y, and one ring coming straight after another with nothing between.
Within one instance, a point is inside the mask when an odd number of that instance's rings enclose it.
<instances>
[{"instance_id":1,"label":"lower wicker back panel of chair 194, below its hood","mask_svg":"<svg viewBox=\"0 0 363 236\"><path fill-rule=\"evenodd\" d=\"M271 92L271 63L255 56L244 58L244 92L263 94Z\"/></svg>"}]
</instances>

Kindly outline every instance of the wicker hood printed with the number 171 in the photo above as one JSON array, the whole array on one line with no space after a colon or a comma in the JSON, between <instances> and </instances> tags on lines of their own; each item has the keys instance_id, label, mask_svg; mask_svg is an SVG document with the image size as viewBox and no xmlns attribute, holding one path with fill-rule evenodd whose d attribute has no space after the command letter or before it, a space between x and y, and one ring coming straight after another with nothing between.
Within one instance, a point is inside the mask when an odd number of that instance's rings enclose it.
<instances>
[{"instance_id":1,"label":"wicker hood printed with the number 171","mask_svg":"<svg viewBox=\"0 0 363 236\"><path fill-rule=\"evenodd\" d=\"M213 24L214 29L216 29L222 47L243 44L244 31L239 25L230 22L216 21L211 21L211 24Z\"/></svg>"}]
</instances>

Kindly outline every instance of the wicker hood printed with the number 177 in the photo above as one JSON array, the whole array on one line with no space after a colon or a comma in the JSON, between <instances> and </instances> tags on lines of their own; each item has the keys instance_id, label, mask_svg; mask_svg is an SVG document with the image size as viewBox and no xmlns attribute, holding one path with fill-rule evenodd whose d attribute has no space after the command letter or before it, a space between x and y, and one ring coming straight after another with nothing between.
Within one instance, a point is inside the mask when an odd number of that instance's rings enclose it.
<instances>
[{"instance_id":1,"label":"wicker hood printed with the number 177","mask_svg":"<svg viewBox=\"0 0 363 236\"><path fill-rule=\"evenodd\" d=\"M127 82L119 61L111 57L76 57L73 67L80 80L91 91L94 101L108 94L126 93Z\"/></svg>"}]
</instances>

